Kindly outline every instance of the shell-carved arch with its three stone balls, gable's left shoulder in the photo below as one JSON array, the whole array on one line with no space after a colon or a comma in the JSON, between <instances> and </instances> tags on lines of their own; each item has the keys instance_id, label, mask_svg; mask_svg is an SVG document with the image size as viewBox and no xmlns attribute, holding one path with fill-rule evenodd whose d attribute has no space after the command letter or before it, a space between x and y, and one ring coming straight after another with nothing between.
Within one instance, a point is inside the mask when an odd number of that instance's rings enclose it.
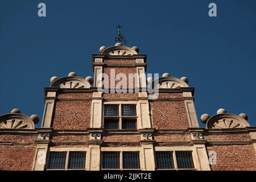
<instances>
[{"instance_id":1,"label":"shell-carved arch with its three stone balls, gable's left shoulder","mask_svg":"<svg viewBox=\"0 0 256 182\"><path fill-rule=\"evenodd\" d=\"M58 78L53 76L50 81L51 86L60 86L61 89L81 89L90 88L93 78L90 76L81 78L76 76L76 73L71 72L67 77Z\"/></svg>"}]
</instances>

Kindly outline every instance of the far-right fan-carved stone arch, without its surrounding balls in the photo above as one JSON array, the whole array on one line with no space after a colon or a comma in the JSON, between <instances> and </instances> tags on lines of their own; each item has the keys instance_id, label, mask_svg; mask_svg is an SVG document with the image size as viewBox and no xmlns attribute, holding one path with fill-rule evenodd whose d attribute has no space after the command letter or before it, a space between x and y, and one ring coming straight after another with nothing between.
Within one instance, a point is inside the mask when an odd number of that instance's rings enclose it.
<instances>
[{"instance_id":1,"label":"far-right fan-carved stone arch, without its surrounding balls","mask_svg":"<svg viewBox=\"0 0 256 182\"><path fill-rule=\"evenodd\" d=\"M213 115L207 121L207 129L236 129L246 126L250 124L245 119L229 113Z\"/></svg>"}]
</instances>

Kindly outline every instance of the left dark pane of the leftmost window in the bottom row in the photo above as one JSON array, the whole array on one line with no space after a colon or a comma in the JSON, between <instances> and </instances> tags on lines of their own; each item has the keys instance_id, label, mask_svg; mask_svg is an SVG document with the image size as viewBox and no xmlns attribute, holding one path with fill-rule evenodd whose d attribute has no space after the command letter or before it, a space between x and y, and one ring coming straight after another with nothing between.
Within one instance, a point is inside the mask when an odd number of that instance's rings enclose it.
<instances>
[{"instance_id":1,"label":"left dark pane of the leftmost window in the bottom row","mask_svg":"<svg viewBox=\"0 0 256 182\"><path fill-rule=\"evenodd\" d=\"M66 152L51 152L48 169L65 169Z\"/></svg>"}]
</instances>

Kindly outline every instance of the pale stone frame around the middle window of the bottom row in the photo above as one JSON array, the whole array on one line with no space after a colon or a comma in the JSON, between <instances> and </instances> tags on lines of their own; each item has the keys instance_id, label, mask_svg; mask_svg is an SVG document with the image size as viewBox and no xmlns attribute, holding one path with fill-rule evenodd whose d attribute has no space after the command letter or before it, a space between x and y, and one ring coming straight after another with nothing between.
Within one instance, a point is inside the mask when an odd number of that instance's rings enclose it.
<instances>
[{"instance_id":1,"label":"pale stone frame around the middle window of the bottom row","mask_svg":"<svg viewBox=\"0 0 256 182\"><path fill-rule=\"evenodd\" d=\"M119 169L104 169L102 168L103 166L103 152L120 152L119 155L119 164L120 164L120 168ZM123 152L138 152L139 153L139 166L140 168L138 169L125 169L123 168ZM136 170L136 171L142 171L144 169L144 155L142 152L142 148L141 147L101 147L101 156L100 156L100 170L101 171L113 171L113 170L117 170L117 171L130 171L130 170Z\"/></svg>"}]
</instances>

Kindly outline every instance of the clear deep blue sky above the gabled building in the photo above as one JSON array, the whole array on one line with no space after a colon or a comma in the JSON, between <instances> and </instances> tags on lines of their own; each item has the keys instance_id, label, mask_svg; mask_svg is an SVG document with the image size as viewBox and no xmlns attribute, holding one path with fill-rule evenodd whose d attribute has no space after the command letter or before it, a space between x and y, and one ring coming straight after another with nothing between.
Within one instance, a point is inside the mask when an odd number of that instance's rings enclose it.
<instances>
[{"instance_id":1,"label":"clear deep blue sky above the gabled building","mask_svg":"<svg viewBox=\"0 0 256 182\"><path fill-rule=\"evenodd\" d=\"M38 17L40 2L46 18ZM256 125L255 0L1 0L0 114L17 107L42 120L49 79L92 76L91 55L114 45L117 24L127 45L147 54L148 73L189 78L199 118L223 107Z\"/></svg>"}]
</instances>

